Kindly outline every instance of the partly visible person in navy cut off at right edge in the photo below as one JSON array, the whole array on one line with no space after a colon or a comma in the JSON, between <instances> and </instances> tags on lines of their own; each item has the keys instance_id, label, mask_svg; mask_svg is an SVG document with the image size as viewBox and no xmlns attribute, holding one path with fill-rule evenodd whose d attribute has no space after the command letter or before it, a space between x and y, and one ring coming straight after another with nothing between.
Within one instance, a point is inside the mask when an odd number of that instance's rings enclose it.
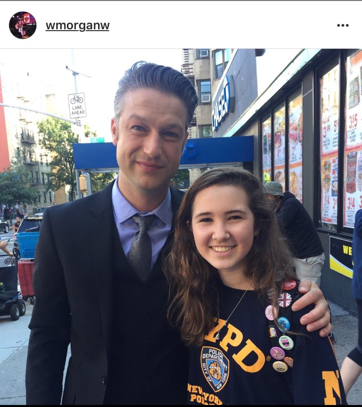
<instances>
[{"instance_id":1,"label":"partly visible person in navy cut off at right edge","mask_svg":"<svg viewBox=\"0 0 362 407\"><path fill-rule=\"evenodd\" d=\"M358 340L357 345L345 357L341 376L346 394L362 372L362 210L355 214L352 238L352 295L357 303Z\"/></svg>"}]
</instances>

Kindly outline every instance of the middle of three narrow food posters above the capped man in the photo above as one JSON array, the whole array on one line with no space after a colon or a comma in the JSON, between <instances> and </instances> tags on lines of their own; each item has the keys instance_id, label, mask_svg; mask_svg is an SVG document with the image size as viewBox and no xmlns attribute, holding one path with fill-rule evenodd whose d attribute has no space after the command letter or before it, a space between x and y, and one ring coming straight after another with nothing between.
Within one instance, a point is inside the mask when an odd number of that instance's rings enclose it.
<instances>
[{"instance_id":1,"label":"middle of three narrow food posters above the capped man","mask_svg":"<svg viewBox=\"0 0 362 407\"><path fill-rule=\"evenodd\" d=\"M285 106L274 114L274 179L285 190Z\"/></svg>"}]
</instances>

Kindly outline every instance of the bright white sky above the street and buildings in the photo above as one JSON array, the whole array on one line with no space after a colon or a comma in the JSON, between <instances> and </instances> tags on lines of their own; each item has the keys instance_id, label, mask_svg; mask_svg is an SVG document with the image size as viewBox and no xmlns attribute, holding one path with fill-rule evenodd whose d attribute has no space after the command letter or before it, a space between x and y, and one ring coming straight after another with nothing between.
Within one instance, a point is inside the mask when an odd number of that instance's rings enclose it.
<instances>
[{"instance_id":1,"label":"bright white sky above the street and buildings","mask_svg":"<svg viewBox=\"0 0 362 407\"><path fill-rule=\"evenodd\" d=\"M265 86L287 65L298 49L267 49L258 58L259 89ZM44 49L22 50L26 64L16 62L18 50L2 50L0 53L0 73L6 64L14 78L25 74L42 82L49 93L57 93L58 111L62 117L69 117L68 94L84 93L87 117L81 119L99 137L111 141L110 121L113 116L113 99L118 81L134 62L146 60L168 65L180 70L182 49ZM46 52L47 58L44 59ZM66 69L68 66L69 69ZM270 66L273 69L270 69ZM72 71L78 72L73 75ZM21 74L22 73L22 74ZM76 83L75 83L75 80ZM26 80L28 77L26 77ZM3 89L6 100L7 89ZM45 117L46 118L46 117Z\"/></svg>"}]
</instances>

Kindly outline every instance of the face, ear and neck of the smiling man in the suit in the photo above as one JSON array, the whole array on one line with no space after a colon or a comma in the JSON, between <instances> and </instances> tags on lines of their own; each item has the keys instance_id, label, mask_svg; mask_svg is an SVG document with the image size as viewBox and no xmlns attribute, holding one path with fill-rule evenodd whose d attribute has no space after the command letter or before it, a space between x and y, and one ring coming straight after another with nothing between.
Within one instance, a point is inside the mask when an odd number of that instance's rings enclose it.
<instances>
[{"instance_id":1,"label":"face, ear and neck of the smiling man in the suit","mask_svg":"<svg viewBox=\"0 0 362 407\"><path fill-rule=\"evenodd\" d=\"M118 185L127 199L155 194L163 199L187 141L186 123L187 109L178 97L154 89L128 91L118 125L111 122Z\"/></svg>"}]
</instances>

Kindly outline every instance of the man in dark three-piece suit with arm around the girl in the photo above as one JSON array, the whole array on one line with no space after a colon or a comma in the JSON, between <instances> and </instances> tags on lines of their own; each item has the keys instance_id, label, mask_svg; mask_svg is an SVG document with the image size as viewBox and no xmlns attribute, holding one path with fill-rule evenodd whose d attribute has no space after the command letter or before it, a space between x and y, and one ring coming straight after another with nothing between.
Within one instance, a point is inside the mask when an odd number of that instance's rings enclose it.
<instances>
[{"instance_id":1,"label":"man in dark three-piece suit with arm around the girl","mask_svg":"<svg viewBox=\"0 0 362 407\"><path fill-rule=\"evenodd\" d=\"M188 351L167 324L162 258L182 199L169 182L196 106L195 89L182 73L134 64L119 82L111 121L116 181L45 210L35 253L27 404L186 403ZM138 230L135 214L155 216L145 281L127 259ZM74 232L74 225L81 227ZM310 288L306 282L304 292ZM317 286L298 304L313 302L304 324L314 321L309 328L324 327L325 336L329 313Z\"/></svg>"}]
</instances>

